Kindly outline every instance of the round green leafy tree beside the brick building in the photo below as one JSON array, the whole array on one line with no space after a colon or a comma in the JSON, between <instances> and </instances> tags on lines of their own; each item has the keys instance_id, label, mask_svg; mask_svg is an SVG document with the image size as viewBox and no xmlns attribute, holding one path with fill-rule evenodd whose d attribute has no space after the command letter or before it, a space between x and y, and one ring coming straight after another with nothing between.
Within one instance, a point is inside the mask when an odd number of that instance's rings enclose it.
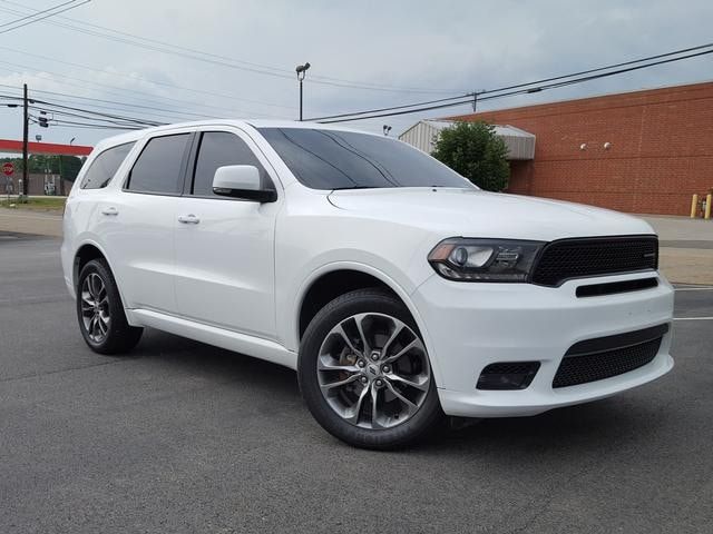
<instances>
[{"instance_id":1,"label":"round green leafy tree beside the brick building","mask_svg":"<svg viewBox=\"0 0 713 534\"><path fill-rule=\"evenodd\" d=\"M431 156L481 189L502 191L508 187L508 149L492 125L456 122L440 131L434 146Z\"/></svg>"}]
</instances>

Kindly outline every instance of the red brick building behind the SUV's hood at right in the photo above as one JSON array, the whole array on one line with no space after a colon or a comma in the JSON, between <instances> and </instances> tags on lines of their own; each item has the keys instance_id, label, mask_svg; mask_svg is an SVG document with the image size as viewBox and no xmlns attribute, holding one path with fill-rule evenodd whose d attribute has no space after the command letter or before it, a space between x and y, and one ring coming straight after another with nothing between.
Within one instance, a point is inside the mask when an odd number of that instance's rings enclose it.
<instances>
[{"instance_id":1,"label":"red brick building behind the SUV's hood at right","mask_svg":"<svg viewBox=\"0 0 713 534\"><path fill-rule=\"evenodd\" d=\"M713 189L713 82L451 117L536 135L510 192L638 214L687 215Z\"/></svg>"}]
</instances>

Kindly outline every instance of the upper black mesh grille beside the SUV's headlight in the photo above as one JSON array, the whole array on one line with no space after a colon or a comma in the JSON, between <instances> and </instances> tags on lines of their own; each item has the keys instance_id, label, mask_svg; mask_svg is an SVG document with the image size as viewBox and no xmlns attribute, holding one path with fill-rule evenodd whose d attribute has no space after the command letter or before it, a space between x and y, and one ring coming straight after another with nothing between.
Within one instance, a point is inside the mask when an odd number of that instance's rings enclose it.
<instances>
[{"instance_id":1,"label":"upper black mesh grille beside the SUV's headlight","mask_svg":"<svg viewBox=\"0 0 713 534\"><path fill-rule=\"evenodd\" d=\"M556 287L570 278L655 270L657 267L656 236L560 239L545 246L536 260L531 281Z\"/></svg>"}]
</instances>

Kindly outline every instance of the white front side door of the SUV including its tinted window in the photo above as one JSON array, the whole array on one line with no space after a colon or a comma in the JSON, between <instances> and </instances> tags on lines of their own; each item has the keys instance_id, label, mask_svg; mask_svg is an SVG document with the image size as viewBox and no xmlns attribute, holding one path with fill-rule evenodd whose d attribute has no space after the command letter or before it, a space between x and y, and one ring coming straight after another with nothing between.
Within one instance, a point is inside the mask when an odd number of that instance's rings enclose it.
<instances>
[{"instance_id":1,"label":"white front side door of the SUV including its tinted window","mask_svg":"<svg viewBox=\"0 0 713 534\"><path fill-rule=\"evenodd\" d=\"M264 187L275 187L267 160L241 130L196 134L175 221L178 310L193 320L274 339L274 234L282 196L260 204L214 195L213 176L225 165L254 165Z\"/></svg>"}]
</instances>

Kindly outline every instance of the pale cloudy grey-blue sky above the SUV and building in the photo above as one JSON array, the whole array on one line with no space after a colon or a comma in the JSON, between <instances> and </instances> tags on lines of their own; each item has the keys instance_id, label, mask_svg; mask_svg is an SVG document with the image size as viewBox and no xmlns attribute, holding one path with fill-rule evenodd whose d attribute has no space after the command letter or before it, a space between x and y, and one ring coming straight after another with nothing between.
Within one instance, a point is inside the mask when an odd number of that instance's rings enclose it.
<instances>
[{"instance_id":1,"label":"pale cloudy grey-blue sky above the SUV and building","mask_svg":"<svg viewBox=\"0 0 713 534\"><path fill-rule=\"evenodd\" d=\"M75 0L80 3L84 0ZM159 122L305 118L458 96L713 42L713 2L485 0L91 0L22 28L62 0L0 0L0 105L21 95ZM70 7L68 4L67 7ZM64 8L62 8L64 9ZM28 19L30 20L30 19ZM713 55L482 102L511 108L713 79ZM45 92L42 92L45 91ZM33 115L41 111L32 110ZM345 122L391 135L468 106ZM80 112L77 112L81 115ZM50 119L87 121L81 117ZM30 139L94 145L119 130L50 121ZM0 106L0 138L21 138Z\"/></svg>"}]
</instances>

